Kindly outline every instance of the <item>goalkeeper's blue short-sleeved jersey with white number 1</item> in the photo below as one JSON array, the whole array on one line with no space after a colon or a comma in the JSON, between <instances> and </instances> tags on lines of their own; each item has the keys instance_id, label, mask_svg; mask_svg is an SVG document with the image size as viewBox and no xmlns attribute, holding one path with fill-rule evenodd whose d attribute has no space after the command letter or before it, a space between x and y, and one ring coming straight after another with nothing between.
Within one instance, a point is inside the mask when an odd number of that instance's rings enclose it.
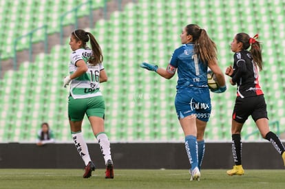
<instances>
[{"instance_id":1,"label":"goalkeeper's blue short-sleeved jersey with white number 1","mask_svg":"<svg viewBox=\"0 0 285 189\"><path fill-rule=\"evenodd\" d=\"M169 64L178 69L176 89L208 87L208 63L202 63L194 51L194 43L184 44L176 49Z\"/></svg>"}]
</instances>

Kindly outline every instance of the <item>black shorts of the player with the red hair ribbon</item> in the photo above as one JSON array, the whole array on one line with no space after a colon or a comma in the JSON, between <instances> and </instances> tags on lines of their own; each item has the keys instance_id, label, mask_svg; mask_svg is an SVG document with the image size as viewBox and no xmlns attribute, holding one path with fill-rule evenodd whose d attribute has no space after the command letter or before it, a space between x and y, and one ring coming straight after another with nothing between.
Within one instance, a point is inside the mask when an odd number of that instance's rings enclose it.
<instances>
[{"instance_id":1,"label":"black shorts of the player with the red hair ribbon","mask_svg":"<svg viewBox=\"0 0 285 189\"><path fill-rule=\"evenodd\" d=\"M239 123L246 122L249 115L256 120L267 117L266 102L263 95L246 98L237 97L233 108L233 120Z\"/></svg>"}]
</instances>

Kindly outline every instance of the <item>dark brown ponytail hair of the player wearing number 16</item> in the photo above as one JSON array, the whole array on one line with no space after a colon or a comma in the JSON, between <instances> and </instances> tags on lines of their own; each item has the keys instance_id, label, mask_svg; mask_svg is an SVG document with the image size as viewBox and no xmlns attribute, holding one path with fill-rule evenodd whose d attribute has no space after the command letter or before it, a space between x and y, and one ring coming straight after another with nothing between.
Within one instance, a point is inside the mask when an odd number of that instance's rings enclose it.
<instances>
[{"instance_id":1,"label":"dark brown ponytail hair of the player wearing number 16","mask_svg":"<svg viewBox=\"0 0 285 189\"><path fill-rule=\"evenodd\" d=\"M72 36L74 36L76 41L82 41L83 47L86 47L86 43L90 38L90 44L93 52L93 56L88 60L90 65L97 65L98 63L103 62L101 47L96 41L96 38L90 32L85 32L84 30L74 30L74 32L72 32Z\"/></svg>"}]
</instances>

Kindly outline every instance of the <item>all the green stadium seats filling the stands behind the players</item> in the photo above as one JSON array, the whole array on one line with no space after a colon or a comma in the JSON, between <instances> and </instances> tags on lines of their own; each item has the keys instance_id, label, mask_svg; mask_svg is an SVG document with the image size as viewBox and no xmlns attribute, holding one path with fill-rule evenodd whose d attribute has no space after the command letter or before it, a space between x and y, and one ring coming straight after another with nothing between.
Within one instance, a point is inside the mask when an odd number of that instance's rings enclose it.
<instances>
[{"instance_id":1,"label":"all the green stadium seats filling the stands behind the players","mask_svg":"<svg viewBox=\"0 0 285 189\"><path fill-rule=\"evenodd\" d=\"M35 3L36 2L36 3ZM246 8L237 1L222 0L209 5L209 1L138 1L129 3L123 11L115 11L109 20L101 19L92 32L103 49L103 65L108 82L101 84L105 97L105 130L114 142L183 142L184 135L176 117L174 98L176 78L165 80L156 73L140 69L143 61L166 67L173 50L179 47L182 27L198 23L217 43L219 65L224 70L233 63L230 43L237 32L252 36L259 32L264 47L264 71L260 72L262 89L266 93L270 120L284 122L285 74L282 69L284 54L284 18L280 16L283 1L247 1ZM0 1L2 26L21 36L43 25L50 34L59 32L59 16L81 1ZM103 1L92 3L93 8L103 6ZM10 7L7 9L6 7ZM242 7L242 8L241 8ZM251 9L253 7L253 9ZM83 6L87 8L86 5ZM193 8L193 11L189 12ZM30 14L33 12L33 14ZM87 12L87 11L86 11ZM187 12L187 16L185 16ZM78 12L85 16L83 12ZM10 16L6 16L10 15ZM15 21L21 17L21 24ZM242 20L243 22L241 22ZM74 21L67 14L64 24ZM256 23L256 24L253 24ZM20 32L18 32L20 31ZM10 34L9 34L10 35ZM42 31L34 34L41 41ZM0 32L1 47L12 52L14 38ZM25 48L28 39L19 41ZM49 122L56 141L71 142L67 120L68 89L62 79L68 74L69 39L65 45L56 45L50 54L39 54L34 63L21 63L18 71L7 71L0 86L0 142L34 142L42 122ZM271 49L276 47L275 49ZM1 50L3 51L3 49ZM5 58L1 54L2 58ZM228 78L226 77L226 80ZM212 115L205 133L205 140L231 140L231 114L236 87L227 82L228 90L222 94L211 93ZM274 128L275 129L275 128ZM255 123L249 118L242 136L246 140L261 140ZM94 135L87 118L83 121L84 137L94 142Z\"/></svg>"}]
</instances>

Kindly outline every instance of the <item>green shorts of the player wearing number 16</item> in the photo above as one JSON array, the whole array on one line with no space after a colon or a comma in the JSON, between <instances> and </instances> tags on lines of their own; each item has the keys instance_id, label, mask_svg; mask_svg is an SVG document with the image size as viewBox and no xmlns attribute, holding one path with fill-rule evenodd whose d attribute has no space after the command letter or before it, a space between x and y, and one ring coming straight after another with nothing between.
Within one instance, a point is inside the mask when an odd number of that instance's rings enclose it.
<instances>
[{"instance_id":1,"label":"green shorts of the player wearing number 16","mask_svg":"<svg viewBox=\"0 0 285 189\"><path fill-rule=\"evenodd\" d=\"M77 98L72 96L68 98L68 117L72 121L81 121L84 115L105 117L105 101L103 96L95 96L91 98Z\"/></svg>"}]
</instances>

